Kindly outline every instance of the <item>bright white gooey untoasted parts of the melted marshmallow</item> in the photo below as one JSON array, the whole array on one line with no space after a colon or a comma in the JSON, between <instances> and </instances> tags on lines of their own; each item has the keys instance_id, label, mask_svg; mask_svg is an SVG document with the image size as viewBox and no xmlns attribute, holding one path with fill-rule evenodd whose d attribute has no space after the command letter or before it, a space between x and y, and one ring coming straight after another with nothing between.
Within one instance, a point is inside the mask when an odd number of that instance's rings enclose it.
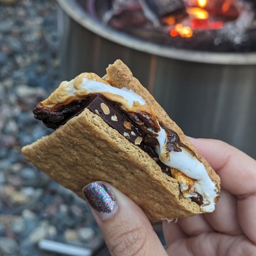
<instances>
[{"instance_id":1,"label":"bright white gooey untoasted parts of the melted marshmallow","mask_svg":"<svg viewBox=\"0 0 256 256\"><path fill-rule=\"evenodd\" d=\"M76 92L78 92L73 85L68 86L66 89L69 91L70 96L75 96ZM130 107L133 106L134 101L139 102L141 105L146 104L146 101L131 89L127 89L125 87L119 89L98 81L89 80L87 78L83 78L83 81L79 85L78 90L85 91L85 95L106 92L122 96L124 100L128 101ZM181 152L167 152L167 134L160 125L159 127L160 131L155 133L157 135L156 139L159 142L159 146L156 146L156 152L159 155L159 159L165 165L175 168L186 176L195 179L195 192L201 194L203 197L201 212L212 212L215 208L214 199L218 196L218 189L216 184L210 179L202 162L200 162L195 156L189 153L185 148L181 147ZM153 130L149 130L153 132ZM186 184L180 184L180 187L183 191L187 189ZM193 196L197 196L197 194L186 194L186 197Z\"/></svg>"}]
</instances>

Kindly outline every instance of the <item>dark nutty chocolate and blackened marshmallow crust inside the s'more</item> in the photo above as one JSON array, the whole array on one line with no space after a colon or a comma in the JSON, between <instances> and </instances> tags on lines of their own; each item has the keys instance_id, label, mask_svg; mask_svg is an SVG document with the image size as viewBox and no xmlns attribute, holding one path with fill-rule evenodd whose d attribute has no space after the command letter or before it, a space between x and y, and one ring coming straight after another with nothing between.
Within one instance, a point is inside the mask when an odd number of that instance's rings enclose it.
<instances>
[{"instance_id":1,"label":"dark nutty chocolate and blackened marshmallow crust inside the s'more","mask_svg":"<svg viewBox=\"0 0 256 256\"><path fill-rule=\"evenodd\" d=\"M42 120L47 127L56 129L72 117L80 114L85 108L100 116L110 127L116 129L131 143L139 146L151 158L155 159L162 172L172 177L169 167L159 160L159 156L155 151L158 140L151 137L150 135L153 136L154 134L148 131L148 128L151 128L154 132L159 132L158 123L145 112L123 112L116 102L107 100L102 94L93 94L54 109L44 107L39 103L33 113L34 117ZM166 149L169 152L180 152L180 147L188 148L181 143L176 132L171 129L164 129L167 133ZM191 153L195 155L193 151ZM199 205L203 203L203 198L200 194L198 194L198 197L192 197L191 199Z\"/></svg>"}]
</instances>

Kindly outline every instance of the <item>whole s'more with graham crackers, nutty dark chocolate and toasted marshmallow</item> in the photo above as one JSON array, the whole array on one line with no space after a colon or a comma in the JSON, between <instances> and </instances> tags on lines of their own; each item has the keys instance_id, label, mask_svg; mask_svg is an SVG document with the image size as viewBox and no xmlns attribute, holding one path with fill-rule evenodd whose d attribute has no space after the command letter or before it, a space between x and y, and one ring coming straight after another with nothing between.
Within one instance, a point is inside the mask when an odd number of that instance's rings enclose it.
<instances>
[{"instance_id":1,"label":"whole s'more with graham crackers, nutty dark chocolate and toasted marshmallow","mask_svg":"<svg viewBox=\"0 0 256 256\"><path fill-rule=\"evenodd\" d=\"M86 184L111 183L152 223L213 212L219 176L121 60L106 71L64 81L36 106L54 131L25 158L82 198Z\"/></svg>"}]
</instances>

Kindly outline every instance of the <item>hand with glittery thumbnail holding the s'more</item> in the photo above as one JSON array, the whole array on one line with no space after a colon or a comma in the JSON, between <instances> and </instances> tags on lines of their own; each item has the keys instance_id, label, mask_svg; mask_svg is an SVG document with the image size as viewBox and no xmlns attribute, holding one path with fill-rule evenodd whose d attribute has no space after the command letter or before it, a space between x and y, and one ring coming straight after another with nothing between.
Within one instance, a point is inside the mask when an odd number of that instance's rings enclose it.
<instances>
[{"instance_id":1,"label":"hand with glittery thumbnail holding the s'more","mask_svg":"<svg viewBox=\"0 0 256 256\"><path fill-rule=\"evenodd\" d=\"M85 188L111 255L256 255L256 161L218 140L191 142L220 176L220 200L213 213L163 222L167 250L126 195L105 182Z\"/></svg>"}]
</instances>

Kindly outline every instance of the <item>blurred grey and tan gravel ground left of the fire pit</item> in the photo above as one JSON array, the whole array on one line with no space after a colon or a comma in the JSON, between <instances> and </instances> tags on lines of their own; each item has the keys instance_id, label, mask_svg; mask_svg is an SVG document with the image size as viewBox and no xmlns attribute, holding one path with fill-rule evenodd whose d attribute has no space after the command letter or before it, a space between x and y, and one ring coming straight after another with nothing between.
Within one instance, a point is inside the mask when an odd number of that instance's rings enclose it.
<instances>
[{"instance_id":1,"label":"blurred grey and tan gravel ground left of the fire pit","mask_svg":"<svg viewBox=\"0 0 256 256\"><path fill-rule=\"evenodd\" d=\"M60 82L56 16L53 0L0 0L1 256L55 255L38 249L42 239L102 245L86 203L21 154L52 132L32 110Z\"/></svg>"}]
</instances>

